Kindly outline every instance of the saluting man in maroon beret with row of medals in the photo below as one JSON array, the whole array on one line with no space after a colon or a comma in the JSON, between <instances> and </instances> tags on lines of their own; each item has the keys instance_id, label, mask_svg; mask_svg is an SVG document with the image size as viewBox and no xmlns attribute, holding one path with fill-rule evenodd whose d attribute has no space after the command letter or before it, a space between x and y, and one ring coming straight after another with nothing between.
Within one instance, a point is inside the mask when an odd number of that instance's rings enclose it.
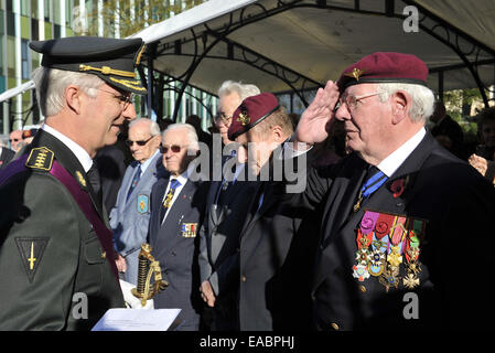
<instances>
[{"instance_id":1,"label":"saluting man in maroon beret with row of medals","mask_svg":"<svg viewBox=\"0 0 495 353\"><path fill-rule=\"evenodd\" d=\"M433 110L418 57L374 53L329 82L294 142L344 121L354 152L311 170L299 206L323 205L312 279L320 330L493 328L484 268L494 189L424 129ZM462 265L455 258L462 253Z\"/></svg>"}]
</instances>

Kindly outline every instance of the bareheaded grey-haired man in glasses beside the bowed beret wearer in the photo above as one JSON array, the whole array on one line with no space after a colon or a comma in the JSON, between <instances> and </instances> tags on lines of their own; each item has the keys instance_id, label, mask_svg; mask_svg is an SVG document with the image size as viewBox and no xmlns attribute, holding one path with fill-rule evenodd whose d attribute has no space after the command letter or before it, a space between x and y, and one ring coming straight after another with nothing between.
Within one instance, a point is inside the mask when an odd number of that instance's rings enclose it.
<instances>
[{"instance_id":1,"label":"bareheaded grey-haired man in glasses beside the bowed beret wearer","mask_svg":"<svg viewBox=\"0 0 495 353\"><path fill-rule=\"evenodd\" d=\"M217 331L238 330L237 288L239 232L247 214L247 207L255 196L255 182L247 182L244 163L238 163L236 150L238 145L228 139L228 127L233 122L233 114L243 99L259 94L255 85L226 81L218 89L218 113L211 154L213 182L211 183L205 221L201 228L200 269L202 297L211 307L205 310L204 319L211 313L211 329ZM216 156L218 135L222 137L224 152ZM229 154L230 153L230 154ZM216 163L222 162L223 175L216 179ZM239 182L237 180L239 179ZM246 182L240 182L240 181ZM209 321L205 319L204 321Z\"/></svg>"}]
</instances>

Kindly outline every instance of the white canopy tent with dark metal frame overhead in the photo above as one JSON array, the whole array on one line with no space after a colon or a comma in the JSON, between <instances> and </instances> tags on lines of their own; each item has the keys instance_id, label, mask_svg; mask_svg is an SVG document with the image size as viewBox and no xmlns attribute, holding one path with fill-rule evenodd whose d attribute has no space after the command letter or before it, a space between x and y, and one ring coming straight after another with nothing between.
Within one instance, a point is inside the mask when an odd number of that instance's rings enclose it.
<instances>
[{"instance_id":1,"label":"white canopy tent with dark metal frame overhead","mask_svg":"<svg viewBox=\"0 0 495 353\"><path fill-rule=\"evenodd\" d=\"M211 0L132 36L144 65L211 94L235 79L304 100L376 51L416 54L442 93L493 85L494 15L491 0Z\"/></svg>"}]
</instances>

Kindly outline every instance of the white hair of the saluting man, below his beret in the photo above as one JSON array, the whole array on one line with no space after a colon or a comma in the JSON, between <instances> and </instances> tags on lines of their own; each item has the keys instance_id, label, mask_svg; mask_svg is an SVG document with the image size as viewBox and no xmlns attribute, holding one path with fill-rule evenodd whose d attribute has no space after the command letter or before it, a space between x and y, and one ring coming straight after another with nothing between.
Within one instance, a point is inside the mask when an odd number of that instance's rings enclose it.
<instances>
[{"instance_id":1,"label":"white hair of the saluting man, below his beret","mask_svg":"<svg viewBox=\"0 0 495 353\"><path fill-rule=\"evenodd\" d=\"M377 93L379 93L381 101L388 100L388 98L398 90L407 92L412 98L412 106L409 110L411 120L427 122L428 118L433 114L434 110L433 92L426 86L415 84L377 84Z\"/></svg>"}]
</instances>

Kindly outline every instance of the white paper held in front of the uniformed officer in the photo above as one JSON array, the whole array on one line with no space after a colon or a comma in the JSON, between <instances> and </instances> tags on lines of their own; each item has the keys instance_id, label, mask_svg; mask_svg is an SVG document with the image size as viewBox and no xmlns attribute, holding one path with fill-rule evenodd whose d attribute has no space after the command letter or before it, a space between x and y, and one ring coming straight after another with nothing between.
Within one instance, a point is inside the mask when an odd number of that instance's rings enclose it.
<instances>
[{"instance_id":1,"label":"white paper held in front of the uniformed officer","mask_svg":"<svg viewBox=\"0 0 495 353\"><path fill-rule=\"evenodd\" d=\"M181 309L109 309L92 331L166 331Z\"/></svg>"}]
</instances>

